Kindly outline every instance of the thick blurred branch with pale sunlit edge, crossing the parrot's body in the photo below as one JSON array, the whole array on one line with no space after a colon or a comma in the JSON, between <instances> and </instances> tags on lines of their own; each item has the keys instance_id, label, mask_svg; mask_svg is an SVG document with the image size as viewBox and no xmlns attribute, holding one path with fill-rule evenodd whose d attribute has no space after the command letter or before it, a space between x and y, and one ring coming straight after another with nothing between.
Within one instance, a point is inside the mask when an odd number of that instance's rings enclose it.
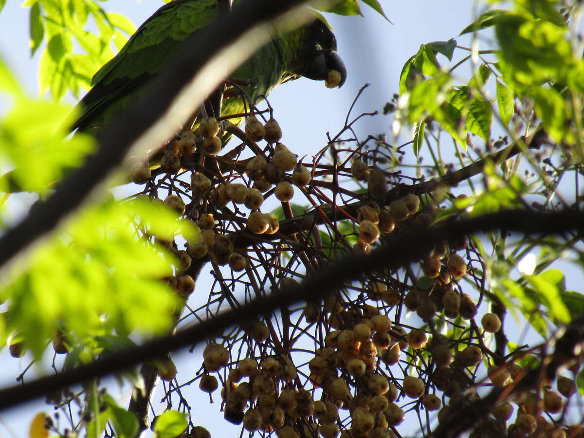
<instances>
[{"instance_id":1,"label":"thick blurred branch with pale sunlit edge, crossing the parrot's body","mask_svg":"<svg viewBox=\"0 0 584 438\"><path fill-rule=\"evenodd\" d=\"M121 164L128 151L144 152L159 147L213 91L227 71L237 68L246 57L269 40L262 27L306 0L250 0L236 6L215 23L201 29L197 44L183 51L153 82L150 91L133 109L103 128L103 138L95 154L60 183L55 192L18 225L0 238L0 266L4 274L8 262L22 255L47 235L94 192ZM260 32L263 31L263 32ZM245 38L253 34L252 38ZM242 41L244 40L245 41ZM235 41L235 42L234 42ZM196 55L193 55L196 54ZM147 105L145 104L147 102Z\"/></svg>"}]
</instances>

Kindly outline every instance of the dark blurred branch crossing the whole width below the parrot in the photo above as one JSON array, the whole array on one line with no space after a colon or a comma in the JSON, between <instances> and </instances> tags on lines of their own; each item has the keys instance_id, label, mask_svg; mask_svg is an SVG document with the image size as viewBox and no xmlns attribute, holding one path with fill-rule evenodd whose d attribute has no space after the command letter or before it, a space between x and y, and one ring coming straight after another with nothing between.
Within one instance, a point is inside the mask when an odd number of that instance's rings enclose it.
<instances>
[{"instance_id":1,"label":"dark blurred branch crossing the whole width below the parrot","mask_svg":"<svg viewBox=\"0 0 584 438\"><path fill-rule=\"evenodd\" d=\"M318 275L308 277L300 286L287 288L267 297L255 298L241 307L224 311L200 324L176 332L175 335L153 339L144 345L120 351L61 374L5 388L0 391L0 409L18 405L60 388L117 373L172 350L197 344L223 332L225 328L242 324L255 315L265 314L280 307L290 307L299 301L319 300L329 291L342 287L346 281L359 279L363 274L377 269L393 270L406 263L416 262L420 254L430 251L434 245L444 240L500 229L524 234L584 231L584 212L566 210L539 213L503 210L467 220L445 221L431 228L413 227L399 239L387 239L387 242L371 251L369 256L352 255L338 263L323 267ZM570 351L570 342L572 341L569 338L565 339L564 351ZM580 338L574 337L573 342L580 342Z\"/></svg>"}]
</instances>

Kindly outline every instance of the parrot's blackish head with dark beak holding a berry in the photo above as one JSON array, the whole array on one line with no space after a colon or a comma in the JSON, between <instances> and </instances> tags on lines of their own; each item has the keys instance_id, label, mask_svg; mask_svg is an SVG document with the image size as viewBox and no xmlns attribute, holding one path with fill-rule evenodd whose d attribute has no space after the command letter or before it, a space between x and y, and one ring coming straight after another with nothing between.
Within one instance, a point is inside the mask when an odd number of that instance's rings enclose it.
<instances>
[{"instance_id":1,"label":"parrot's blackish head with dark beak holding a berry","mask_svg":"<svg viewBox=\"0 0 584 438\"><path fill-rule=\"evenodd\" d=\"M336 71L340 74L340 78L336 81L338 86L345 84L347 70L336 53L336 38L331 29L322 20L315 19L304 27L303 39L307 51L304 53L304 62L297 74L315 81L330 81L329 74Z\"/></svg>"}]
</instances>

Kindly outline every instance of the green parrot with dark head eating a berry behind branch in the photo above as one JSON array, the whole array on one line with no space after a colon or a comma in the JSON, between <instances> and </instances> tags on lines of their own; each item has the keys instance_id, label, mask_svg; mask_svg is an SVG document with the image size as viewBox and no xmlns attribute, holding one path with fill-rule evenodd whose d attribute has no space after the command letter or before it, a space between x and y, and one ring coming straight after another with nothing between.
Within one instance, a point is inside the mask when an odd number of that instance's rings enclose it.
<instances>
[{"instance_id":1,"label":"green parrot with dark head eating a berry behind branch","mask_svg":"<svg viewBox=\"0 0 584 438\"><path fill-rule=\"evenodd\" d=\"M216 0L174 0L158 9L95 74L91 90L78 104L81 115L72 130L85 131L99 140L100 128L132 105L185 46L196 43L197 31L217 18L218 9ZM326 81L329 72L336 71L340 74L338 86L343 85L345 65L336 53L335 36L322 20L277 35L230 75L251 83L242 88L255 105L277 85L298 77ZM226 93L221 115L242 112L241 95Z\"/></svg>"}]
</instances>

